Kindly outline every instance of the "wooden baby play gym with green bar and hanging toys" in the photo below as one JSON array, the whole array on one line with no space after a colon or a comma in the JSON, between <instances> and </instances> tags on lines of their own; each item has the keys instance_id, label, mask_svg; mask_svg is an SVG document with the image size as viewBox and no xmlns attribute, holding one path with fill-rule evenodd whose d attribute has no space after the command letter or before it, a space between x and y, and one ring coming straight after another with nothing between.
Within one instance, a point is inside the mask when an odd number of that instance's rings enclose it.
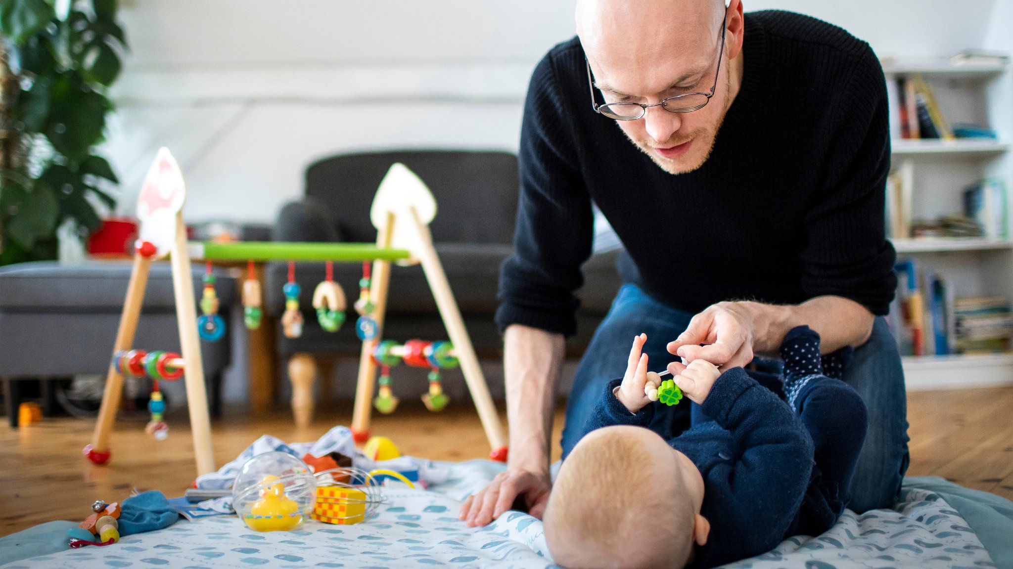
<instances>
[{"instance_id":1,"label":"wooden baby play gym with green bar and hanging toys","mask_svg":"<svg viewBox=\"0 0 1013 569\"><path fill-rule=\"evenodd\" d=\"M359 313L355 323L356 333L363 341L352 424L357 441L364 442L369 438L371 404L382 413L392 412L397 406L397 398L390 385L390 368L403 362L430 369L430 390L422 400L430 410L439 411L448 402L440 384L440 372L460 364L492 449L490 457L505 460L506 439L499 417L443 265L433 246L428 224L436 216L437 204L425 184L408 168L402 164L391 166L377 190L370 212L370 219L377 229L375 244L188 243L182 217L185 193L182 173L175 159L167 149L160 149L138 198L140 235L98 420L91 443L84 449L89 461L104 464L110 458L109 438L120 407L125 376L151 379L152 396L148 408L152 413L152 420L147 430L156 438L164 438L167 434L167 427L161 420L165 403L159 392L159 382L175 381L182 377L187 394L198 475L216 470L199 338L216 341L222 337L226 325L218 315L212 263L244 260L250 266L254 261L289 261L289 282L284 288L286 313L282 318L284 333L289 337L298 337L305 325L299 311L301 291L295 282L295 261L327 263L327 278L314 292L312 305L320 326L330 332L342 325L346 308L344 293L331 277L331 263L363 263L360 296L355 303L355 309ZM181 354L144 351L132 347L151 263L166 256L172 267ZM204 260L208 266L200 303L203 314L200 317L197 316L193 283L190 279L191 258ZM398 342L383 339L391 262L421 265L450 341L408 339ZM260 283L250 270L249 277L243 283L244 322L247 327L256 328L260 325ZM290 369L298 368L298 360L294 360ZM377 368L381 371L379 382ZM309 423L313 412L312 374L293 376L292 407L295 420L298 424L305 425ZM380 387L379 393L374 397L376 383Z\"/></svg>"}]
</instances>

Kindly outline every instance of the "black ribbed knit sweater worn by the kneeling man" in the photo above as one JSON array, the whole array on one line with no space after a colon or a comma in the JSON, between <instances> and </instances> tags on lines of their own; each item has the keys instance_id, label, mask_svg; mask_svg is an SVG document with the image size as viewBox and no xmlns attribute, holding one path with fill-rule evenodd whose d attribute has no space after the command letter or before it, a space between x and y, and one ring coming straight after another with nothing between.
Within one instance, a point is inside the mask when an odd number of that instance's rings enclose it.
<instances>
[{"instance_id":1,"label":"black ribbed knit sweater worn by the kneeling man","mask_svg":"<svg viewBox=\"0 0 1013 569\"><path fill-rule=\"evenodd\" d=\"M628 257L622 276L696 313L725 300L893 297L883 229L886 89L869 46L784 11L746 14L741 89L704 165L665 172L592 110L576 37L535 69L521 133L516 251L500 273L500 329L570 335L592 251L592 201Z\"/></svg>"}]
</instances>

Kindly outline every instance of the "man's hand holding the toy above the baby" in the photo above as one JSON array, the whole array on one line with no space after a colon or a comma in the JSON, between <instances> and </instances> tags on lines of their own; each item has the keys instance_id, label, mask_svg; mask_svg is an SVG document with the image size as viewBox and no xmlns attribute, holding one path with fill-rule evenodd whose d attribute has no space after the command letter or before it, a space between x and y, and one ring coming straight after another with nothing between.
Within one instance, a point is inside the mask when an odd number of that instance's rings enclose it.
<instances>
[{"instance_id":1,"label":"man's hand holding the toy above the baby","mask_svg":"<svg viewBox=\"0 0 1013 569\"><path fill-rule=\"evenodd\" d=\"M720 370L746 365L753 360L754 352L754 317L747 304L726 302L709 306L690 320L676 341L669 342L669 352L690 362L704 359Z\"/></svg>"}]
</instances>

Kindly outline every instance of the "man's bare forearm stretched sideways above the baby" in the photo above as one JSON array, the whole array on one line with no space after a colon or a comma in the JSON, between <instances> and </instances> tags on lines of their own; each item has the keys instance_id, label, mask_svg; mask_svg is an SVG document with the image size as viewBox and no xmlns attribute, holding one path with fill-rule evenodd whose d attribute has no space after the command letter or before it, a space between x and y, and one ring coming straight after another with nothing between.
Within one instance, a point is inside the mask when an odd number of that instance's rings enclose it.
<instances>
[{"instance_id":1,"label":"man's bare forearm stretched sideways above the baby","mask_svg":"<svg viewBox=\"0 0 1013 569\"><path fill-rule=\"evenodd\" d=\"M777 353L785 334L807 325L820 334L820 348L830 353L844 346L859 346L872 334L874 316L864 306L843 297L816 297L800 305L736 303L753 322L753 346L757 353Z\"/></svg>"}]
</instances>

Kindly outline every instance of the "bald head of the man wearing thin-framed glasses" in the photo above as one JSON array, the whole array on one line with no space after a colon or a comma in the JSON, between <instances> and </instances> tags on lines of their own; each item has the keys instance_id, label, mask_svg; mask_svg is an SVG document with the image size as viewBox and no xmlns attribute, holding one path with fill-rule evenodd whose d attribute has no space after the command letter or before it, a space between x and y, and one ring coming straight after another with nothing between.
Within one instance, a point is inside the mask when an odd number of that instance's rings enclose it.
<instances>
[{"instance_id":1,"label":"bald head of the man wearing thin-framed glasses","mask_svg":"<svg viewBox=\"0 0 1013 569\"><path fill-rule=\"evenodd\" d=\"M710 155L742 78L742 58L735 60L742 53L742 14L737 0L728 7L722 0L577 0L577 35L604 98L597 103L654 104L714 87L698 110L651 107L642 118L617 121L670 173L695 170Z\"/></svg>"}]
</instances>

